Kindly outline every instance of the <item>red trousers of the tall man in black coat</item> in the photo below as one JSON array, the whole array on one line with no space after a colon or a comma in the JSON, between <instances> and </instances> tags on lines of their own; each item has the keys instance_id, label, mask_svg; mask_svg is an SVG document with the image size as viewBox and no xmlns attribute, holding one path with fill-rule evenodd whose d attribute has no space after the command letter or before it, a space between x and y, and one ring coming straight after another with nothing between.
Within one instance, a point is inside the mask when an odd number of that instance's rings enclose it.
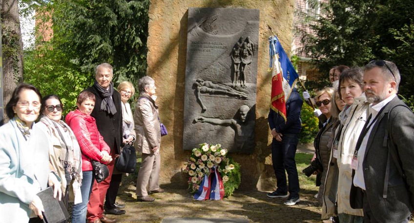
<instances>
[{"instance_id":1,"label":"red trousers of the tall man in black coat","mask_svg":"<svg viewBox=\"0 0 414 223\"><path fill-rule=\"evenodd\" d=\"M93 183L92 192L88 203L88 210L86 213L86 219L88 222L93 222L97 218L101 219L102 214L104 213L105 195L109 187L109 182L111 182L112 171L115 164L115 149L112 149L111 157L112 161L106 164L109 169L109 176L103 182L97 183L95 181Z\"/></svg>"}]
</instances>

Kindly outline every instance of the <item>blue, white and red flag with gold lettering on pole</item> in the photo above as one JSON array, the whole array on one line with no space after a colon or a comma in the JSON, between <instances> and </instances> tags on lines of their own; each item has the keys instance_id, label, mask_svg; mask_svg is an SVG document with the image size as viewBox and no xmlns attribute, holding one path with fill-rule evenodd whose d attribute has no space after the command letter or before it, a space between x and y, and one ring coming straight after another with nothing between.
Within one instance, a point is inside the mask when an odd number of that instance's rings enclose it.
<instances>
[{"instance_id":1,"label":"blue, white and red flag with gold lettering on pole","mask_svg":"<svg viewBox=\"0 0 414 223\"><path fill-rule=\"evenodd\" d=\"M272 72L270 108L286 122L286 101L299 75L276 36L269 37L269 54L269 70Z\"/></svg>"}]
</instances>

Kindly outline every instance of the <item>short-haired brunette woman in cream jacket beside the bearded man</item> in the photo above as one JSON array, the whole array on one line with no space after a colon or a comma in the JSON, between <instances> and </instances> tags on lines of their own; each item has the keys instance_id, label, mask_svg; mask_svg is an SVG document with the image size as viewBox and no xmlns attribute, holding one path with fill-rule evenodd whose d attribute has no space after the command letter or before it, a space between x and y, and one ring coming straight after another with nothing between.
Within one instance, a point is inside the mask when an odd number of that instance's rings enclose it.
<instances>
[{"instance_id":1,"label":"short-haired brunette woman in cream jacket beside the bearded man","mask_svg":"<svg viewBox=\"0 0 414 223\"><path fill-rule=\"evenodd\" d=\"M352 156L359 134L367 121L369 103L363 94L363 73L360 68L353 68L341 73L339 77L339 97L347 104L339 114L341 128L333 142L332 154L338 165L337 204L341 223L362 223L362 209L352 209L350 205L350 189L352 184ZM335 151L337 149L337 151Z\"/></svg>"}]
</instances>

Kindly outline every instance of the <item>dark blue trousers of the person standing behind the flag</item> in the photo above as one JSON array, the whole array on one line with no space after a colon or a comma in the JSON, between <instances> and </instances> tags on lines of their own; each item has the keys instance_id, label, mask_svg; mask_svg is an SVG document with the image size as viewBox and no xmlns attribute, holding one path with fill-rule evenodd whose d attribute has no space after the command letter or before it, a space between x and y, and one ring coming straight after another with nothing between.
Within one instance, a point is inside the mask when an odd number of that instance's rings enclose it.
<instances>
[{"instance_id":1,"label":"dark blue trousers of the person standing behind the flag","mask_svg":"<svg viewBox=\"0 0 414 223\"><path fill-rule=\"evenodd\" d=\"M286 172L289 180L289 198L299 197L299 178L296 169L295 154L299 134L283 134L282 142L272 141L272 162L276 175L277 189L282 194L288 193Z\"/></svg>"}]
</instances>

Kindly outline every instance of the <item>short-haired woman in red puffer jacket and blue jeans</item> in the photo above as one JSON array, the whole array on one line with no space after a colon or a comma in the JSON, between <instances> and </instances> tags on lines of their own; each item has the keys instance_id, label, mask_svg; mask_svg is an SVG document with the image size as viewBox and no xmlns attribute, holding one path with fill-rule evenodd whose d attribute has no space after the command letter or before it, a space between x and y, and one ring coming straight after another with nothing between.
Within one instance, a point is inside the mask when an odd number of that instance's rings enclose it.
<instances>
[{"instance_id":1,"label":"short-haired woman in red puffer jacket and blue jeans","mask_svg":"<svg viewBox=\"0 0 414 223\"><path fill-rule=\"evenodd\" d=\"M85 223L87 204L95 180L91 161L106 163L112 159L109 155L109 146L99 133L95 119L90 116L95 106L95 95L88 91L81 92L78 96L77 106L78 109L69 112L66 116L66 123L78 139L82 151L82 203L73 206L72 223Z\"/></svg>"}]
</instances>

